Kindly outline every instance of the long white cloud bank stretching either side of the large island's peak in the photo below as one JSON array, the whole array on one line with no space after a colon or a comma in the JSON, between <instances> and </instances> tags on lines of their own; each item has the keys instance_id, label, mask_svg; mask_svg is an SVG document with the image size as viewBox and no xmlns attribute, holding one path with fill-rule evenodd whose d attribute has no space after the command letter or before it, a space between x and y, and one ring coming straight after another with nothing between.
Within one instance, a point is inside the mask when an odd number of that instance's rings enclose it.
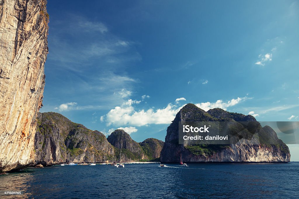
<instances>
[{"instance_id":1,"label":"long white cloud bank stretching either side of the large island's peak","mask_svg":"<svg viewBox=\"0 0 299 199\"><path fill-rule=\"evenodd\" d=\"M222 100L217 100L216 102L204 102L195 104L199 108L202 108L205 111L208 111L210 108L226 108L234 106L239 102L244 100L251 99L248 97L238 97L237 99L232 99L227 102ZM186 100L185 98L178 98L176 100ZM155 109L149 108L147 110L136 110L133 106L138 104L140 101L128 100L124 102L121 106L116 106L111 109L106 115L101 117L101 121L105 121L107 126L146 126L149 124L170 124L175 118L177 112L184 106L179 107L169 103L164 108Z\"/></svg>"}]
</instances>

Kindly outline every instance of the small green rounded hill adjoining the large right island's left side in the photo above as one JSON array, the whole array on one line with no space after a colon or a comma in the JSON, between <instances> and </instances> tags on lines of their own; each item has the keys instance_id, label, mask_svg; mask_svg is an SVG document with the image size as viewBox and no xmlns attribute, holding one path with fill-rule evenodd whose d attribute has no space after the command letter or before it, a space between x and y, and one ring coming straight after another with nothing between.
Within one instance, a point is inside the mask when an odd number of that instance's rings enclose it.
<instances>
[{"instance_id":1,"label":"small green rounded hill adjoining the large right island's left side","mask_svg":"<svg viewBox=\"0 0 299 199\"><path fill-rule=\"evenodd\" d=\"M155 138L147 138L139 144L149 160L160 161L160 154L164 145L163 141Z\"/></svg>"}]
</instances>

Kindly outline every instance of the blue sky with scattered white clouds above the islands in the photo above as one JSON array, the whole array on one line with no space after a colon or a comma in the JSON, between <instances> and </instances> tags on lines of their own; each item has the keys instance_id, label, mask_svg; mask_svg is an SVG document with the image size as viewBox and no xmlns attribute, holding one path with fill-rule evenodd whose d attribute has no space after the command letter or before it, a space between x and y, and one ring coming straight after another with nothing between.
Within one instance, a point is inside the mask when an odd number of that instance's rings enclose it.
<instances>
[{"instance_id":1,"label":"blue sky with scattered white clouds above the islands","mask_svg":"<svg viewBox=\"0 0 299 199\"><path fill-rule=\"evenodd\" d=\"M179 108L298 121L298 1L48 1L41 112L164 140ZM290 145L299 160L297 145ZM298 151L298 152L297 152Z\"/></svg>"}]
</instances>

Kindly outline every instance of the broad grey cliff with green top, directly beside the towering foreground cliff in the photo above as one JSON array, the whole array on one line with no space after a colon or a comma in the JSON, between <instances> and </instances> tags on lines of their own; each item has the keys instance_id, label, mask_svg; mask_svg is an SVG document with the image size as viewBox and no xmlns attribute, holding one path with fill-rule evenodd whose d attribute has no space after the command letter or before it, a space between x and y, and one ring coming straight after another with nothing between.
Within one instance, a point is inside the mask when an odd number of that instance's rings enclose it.
<instances>
[{"instance_id":1,"label":"broad grey cliff with green top, directly beside the towering foreground cliff","mask_svg":"<svg viewBox=\"0 0 299 199\"><path fill-rule=\"evenodd\" d=\"M73 123L54 112L39 113L37 122L35 165L92 162L93 154L95 162L112 160L114 148L101 132Z\"/></svg>"}]
</instances>

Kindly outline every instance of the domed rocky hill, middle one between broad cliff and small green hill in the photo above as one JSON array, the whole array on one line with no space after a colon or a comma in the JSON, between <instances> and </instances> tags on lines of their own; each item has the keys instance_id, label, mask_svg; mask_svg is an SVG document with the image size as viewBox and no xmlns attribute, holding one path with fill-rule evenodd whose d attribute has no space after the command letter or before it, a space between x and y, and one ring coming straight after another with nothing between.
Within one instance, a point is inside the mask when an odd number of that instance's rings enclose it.
<instances>
[{"instance_id":1,"label":"domed rocky hill, middle one between broad cliff and small green hill","mask_svg":"<svg viewBox=\"0 0 299 199\"><path fill-rule=\"evenodd\" d=\"M129 134L124 130L117 129L113 131L108 137L107 140L115 148L115 155L117 160L119 160L120 149L121 150L121 160L123 162L133 162L142 159L147 159L147 156L144 154L141 146L132 140Z\"/></svg>"}]
</instances>

